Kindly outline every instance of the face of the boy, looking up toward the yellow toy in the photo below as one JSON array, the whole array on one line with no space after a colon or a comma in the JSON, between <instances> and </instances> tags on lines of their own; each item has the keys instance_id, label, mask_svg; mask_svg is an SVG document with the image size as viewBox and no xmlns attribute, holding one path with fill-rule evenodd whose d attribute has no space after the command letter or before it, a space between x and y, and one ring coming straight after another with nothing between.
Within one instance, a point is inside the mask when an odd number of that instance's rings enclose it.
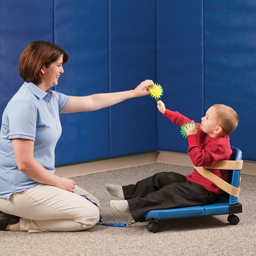
<instances>
[{"instance_id":1,"label":"face of the boy, looking up toward the yellow toy","mask_svg":"<svg viewBox=\"0 0 256 256\"><path fill-rule=\"evenodd\" d=\"M215 137L216 133L214 131L218 127L217 125L217 113L214 106L211 106L204 117L201 118L200 130L211 137Z\"/></svg>"}]
</instances>

